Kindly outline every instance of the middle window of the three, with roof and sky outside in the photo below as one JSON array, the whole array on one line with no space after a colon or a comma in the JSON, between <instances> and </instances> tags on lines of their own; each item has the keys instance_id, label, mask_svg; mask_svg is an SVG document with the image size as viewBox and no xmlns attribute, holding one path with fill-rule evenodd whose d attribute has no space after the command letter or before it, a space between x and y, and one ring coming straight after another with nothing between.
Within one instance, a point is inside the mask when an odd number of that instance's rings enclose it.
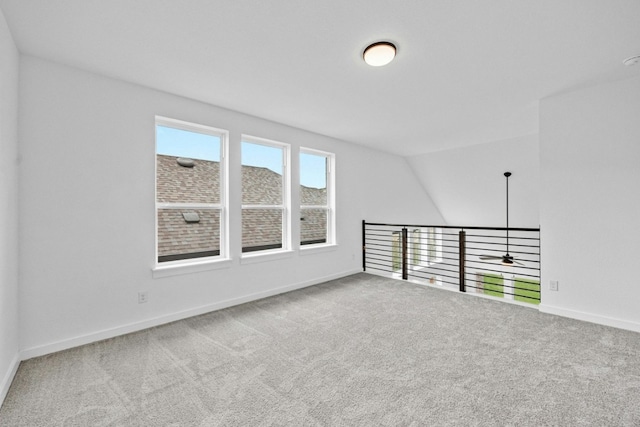
<instances>
[{"instance_id":1,"label":"middle window of the three, with roof and sky outside","mask_svg":"<svg viewBox=\"0 0 640 427\"><path fill-rule=\"evenodd\" d=\"M289 146L242 138L242 252L289 249Z\"/></svg>"}]
</instances>

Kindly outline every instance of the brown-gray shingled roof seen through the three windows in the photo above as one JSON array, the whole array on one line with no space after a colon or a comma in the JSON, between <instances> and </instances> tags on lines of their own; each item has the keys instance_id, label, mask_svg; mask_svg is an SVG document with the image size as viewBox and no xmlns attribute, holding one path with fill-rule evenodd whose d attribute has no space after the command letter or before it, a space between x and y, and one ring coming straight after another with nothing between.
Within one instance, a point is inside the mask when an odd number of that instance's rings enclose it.
<instances>
[{"instance_id":1,"label":"brown-gray shingled roof seen through the three windows","mask_svg":"<svg viewBox=\"0 0 640 427\"><path fill-rule=\"evenodd\" d=\"M158 154L157 199L159 203L220 203L220 164L199 160L193 167L180 166L177 157ZM282 176L267 168L242 166L242 203L280 205ZM325 205L326 189L300 186L303 206ZM197 214L198 222L187 222L183 213ZM190 215L187 215L189 217ZM302 243L326 239L326 210L304 208L301 216ZM220 215L217 209L159 209L158 258L160 261L217 255L220 251ZM245 209L242 221L243 251L281 247L282 211Z\"/></svg>"}]
</instances>

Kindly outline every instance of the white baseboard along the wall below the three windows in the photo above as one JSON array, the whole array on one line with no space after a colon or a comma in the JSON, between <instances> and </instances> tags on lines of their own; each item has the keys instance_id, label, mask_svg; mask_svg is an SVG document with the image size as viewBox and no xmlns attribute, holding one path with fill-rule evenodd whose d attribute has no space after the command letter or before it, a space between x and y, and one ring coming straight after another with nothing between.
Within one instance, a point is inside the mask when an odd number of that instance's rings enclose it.
<instances>
[{"instance_id":1,"label":"white baseboard along the wall below the three windows","mask_svg":"<svg viewBox=\"0 0 640 427\"><path fill-rule=\"evenodd\" d=\"M329 276L319 277L319 278L308 280L305 282L294 283L292 285L269 289L267 291L262 291L262 292L256 292L253 294L228 299L225 301L219 301L214 304L207 304L200 307L194 307L188 310L183 310L175 313L166 314L163 316L154 317L151 319L143 320L141 322L129 323L126 325L117 326L115 328L103 329L101 331L92 332L86 335L80 335L74 338L69 338L69 339L65 339L65 340L61 340L61 341L57 341L49 344L27 348L22 350L22 352L20 353L20 358L21 360L27 360L33 357L44 356L45 354L55 353L55 352L67 350L73 347L79 347L81 345L90 344L92 342L102 341L108 338L113 338L120 335L141 331L144 329L152 328L154 326L163 325L165 323L175 322L176 320L182 320L189 317L209 313L212 311L221 310L223 308L232 307L234 305L244 304L246 302L256 301L262 298L267 298L267 297L282 294L285 292L294 291L296 289L306 288L308 286L317 285L319 283L327 282L329 280L340 279L342 277L350 276L352 274L356 274L360 272L362 272L362 270L350 270L342 273L331 274Z\"/></svg>"}]
</instances>

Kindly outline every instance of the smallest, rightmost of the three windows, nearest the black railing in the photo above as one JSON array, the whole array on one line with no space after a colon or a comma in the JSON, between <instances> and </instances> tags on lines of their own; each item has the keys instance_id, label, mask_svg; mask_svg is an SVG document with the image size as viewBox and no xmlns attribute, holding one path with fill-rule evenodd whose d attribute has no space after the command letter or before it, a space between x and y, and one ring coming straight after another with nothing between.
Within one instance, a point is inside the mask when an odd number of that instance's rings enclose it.
<instances>
[{"instance_id":1,"label":"smallest, rightmost of the three windows, nearest the black railing","mask_svg":"<svg viewBox=\"0 0 640 427\"><path fill-rule=\"evenodd\" d=\"M300 149L300 245L335 243L334 155Z\"/></svg>"}]
</instances>

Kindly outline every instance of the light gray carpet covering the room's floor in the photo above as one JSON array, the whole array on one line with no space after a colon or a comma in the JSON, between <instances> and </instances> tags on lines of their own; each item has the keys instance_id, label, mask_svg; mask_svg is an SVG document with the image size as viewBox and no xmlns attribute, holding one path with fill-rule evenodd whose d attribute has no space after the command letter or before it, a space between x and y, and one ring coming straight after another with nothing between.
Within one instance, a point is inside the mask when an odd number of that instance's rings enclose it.
<instances>
[{"instance_id":1,"label":"light gray carpet covering the room's floor","mask_svg":"<svg viewBox=\"0 0 640 427\"><path fill-rule=\"evenodd\" d=\"M640 425L640 334L357 274L20 365L2 426Z\"/></svg>"}]
</instances>

